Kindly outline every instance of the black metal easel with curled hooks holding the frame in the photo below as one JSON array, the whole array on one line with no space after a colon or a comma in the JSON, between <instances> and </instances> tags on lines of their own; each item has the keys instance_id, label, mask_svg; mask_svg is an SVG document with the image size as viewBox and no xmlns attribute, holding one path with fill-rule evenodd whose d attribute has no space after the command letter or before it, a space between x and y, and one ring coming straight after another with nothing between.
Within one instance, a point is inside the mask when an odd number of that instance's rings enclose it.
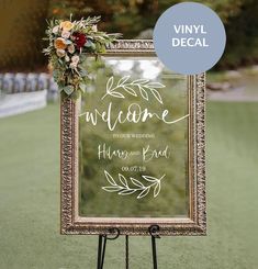
<instances>
[{"instance_id":1,"label":"black metal easel with curled hooks holding the frame","mask_svg":"<svg viewBox=\"0 0 258 269\"><path fill-rule=\"evenodd\" d=\"M153 266L154 269L158 269L156 239L160 238L159 226L157 224L150 225L148 232L152 236ZM99 235L97 269L103 269L106 242L115 240L120 237L120 229L116 227L110 228L109 233L112 235ZM128 235L125 235L125 268L128 269Z\"/></svg>"}]
</instances>

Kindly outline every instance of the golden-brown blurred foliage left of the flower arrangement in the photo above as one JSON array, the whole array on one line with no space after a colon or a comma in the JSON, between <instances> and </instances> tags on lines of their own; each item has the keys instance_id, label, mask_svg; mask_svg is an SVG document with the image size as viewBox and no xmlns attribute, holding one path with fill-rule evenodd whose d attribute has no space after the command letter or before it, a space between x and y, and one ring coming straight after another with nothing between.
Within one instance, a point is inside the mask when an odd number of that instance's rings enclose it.
<instances>
[{"instance_id":1,"label":"golden-brown blurred foliage left of the flower arrangement","mask_svg":"<svg viewBox=\"0 0 258 269\"><path fill-rule=\"evenodd\" d=\"M0 2L0 71L30 71L46 64L42 37L48 0Z\"/></svg>"}]
</instances>

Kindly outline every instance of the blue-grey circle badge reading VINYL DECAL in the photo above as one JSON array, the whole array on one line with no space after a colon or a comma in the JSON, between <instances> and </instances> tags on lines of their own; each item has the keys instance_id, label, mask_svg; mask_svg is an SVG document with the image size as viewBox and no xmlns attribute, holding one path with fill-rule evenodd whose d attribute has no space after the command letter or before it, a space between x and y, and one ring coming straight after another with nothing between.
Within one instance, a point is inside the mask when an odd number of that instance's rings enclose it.
<instances>
[{"instance_id":1,"label":"blue-grey circle badge reading VINYL DECAL","mask_svg":"<svg viewBox=\"0 0 258 269\"><path fill-rule=\"evenodd\" d=\"M154 29L157 56L169 69L195 75L212 68L221 58L226 33L218 15L195 2L172 5Z\"/></svg>"}]
</instances>

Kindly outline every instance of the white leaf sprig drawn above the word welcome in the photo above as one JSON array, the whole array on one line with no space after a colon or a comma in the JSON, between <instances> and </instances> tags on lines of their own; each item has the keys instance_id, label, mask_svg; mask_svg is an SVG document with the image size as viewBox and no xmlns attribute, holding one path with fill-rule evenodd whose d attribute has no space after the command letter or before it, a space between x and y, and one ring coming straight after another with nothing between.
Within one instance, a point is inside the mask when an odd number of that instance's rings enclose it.
<instances>
[{"instance_id":1,"label":"white leaf sprig drawn above the word welcome","mask_svg":"<svg viewBox=\"0 0 258 269\"><path fill-rule=\"evenodd\" d=\"M130 82L131 76L122 77L116 83L114 82L114 77L110 77L105 86L105 94L102 97L102 100L106 96L114 98L125 98L124 93L128 93L134 97L138 94L145 99L149 100L149 94L162 104L162 99L157 89L165 88L165 85L160 82L152 82L149 79L136 79ZM123 90L123 92L121 92Z\"/></svg>"}]
</instances>

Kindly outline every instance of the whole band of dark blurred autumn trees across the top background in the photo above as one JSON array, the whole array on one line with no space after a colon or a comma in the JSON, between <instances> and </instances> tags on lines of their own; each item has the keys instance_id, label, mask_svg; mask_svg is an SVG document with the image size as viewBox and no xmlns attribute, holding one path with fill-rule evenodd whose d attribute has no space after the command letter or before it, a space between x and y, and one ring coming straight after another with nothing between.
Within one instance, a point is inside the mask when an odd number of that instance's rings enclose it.
<instances>
[{"instance_id":1,"label":"whole band of dark blurred autumn trees across the top background","mask_svg":"<svg viewBox=\"0 0 258 269\"><path fill-rule=\"evenodd\" d=\"M159 15L182 0L1 0L0 70L35 70L46 65L42 54L45 18L101 15L100 29L134 38L153 29ZM227 46L216 68L258 61L257 0L200 0L225 23ZM11 14L11 15L10 15Z\"/></svg>"}]
</instances>

